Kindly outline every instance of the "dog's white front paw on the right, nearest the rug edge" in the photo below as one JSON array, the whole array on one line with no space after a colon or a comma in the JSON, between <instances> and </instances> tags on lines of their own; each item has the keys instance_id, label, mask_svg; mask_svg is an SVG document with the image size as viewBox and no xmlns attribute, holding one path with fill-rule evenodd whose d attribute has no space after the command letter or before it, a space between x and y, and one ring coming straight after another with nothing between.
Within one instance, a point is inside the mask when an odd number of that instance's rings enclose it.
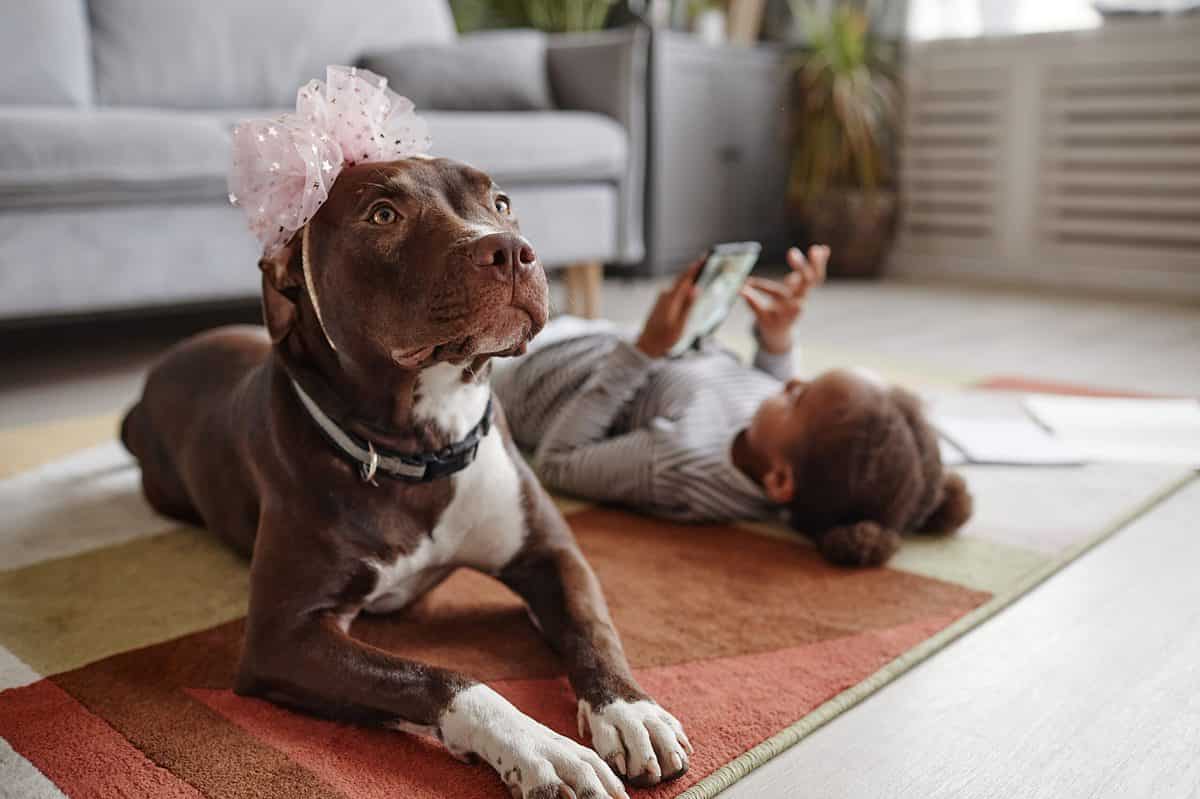
<instances>
[{"instance_id":1,"label":"dog's white front paw on the right, nearest the rug edge","mask_svg":"<svg viewBox=\"0 0 1200 799\"><path fill-rule=\"evenodd\" d=\"M683 776L691 744L683 725L649 699L617 699L593 708L580 699L580 737L612 770L637 787Z\"/></svg>"}]
</instances>

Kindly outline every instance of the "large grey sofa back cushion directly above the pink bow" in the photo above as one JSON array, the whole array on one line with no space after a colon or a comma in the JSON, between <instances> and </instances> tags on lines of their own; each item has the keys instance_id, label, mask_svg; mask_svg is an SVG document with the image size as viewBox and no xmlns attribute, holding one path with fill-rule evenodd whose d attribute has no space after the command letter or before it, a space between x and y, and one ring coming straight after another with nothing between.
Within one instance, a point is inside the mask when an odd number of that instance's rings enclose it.
<instances>
[{"instance_id":1,"label":"large grey sofa back cushion directly above the pink bow","mask_svg":"<svg viewBox=\"0 0 1200 799\"><path fill-rule=\"evenodd\" d=\"M38 4L40 5L40 4ZM100 102L294 106L329 64L454 41L446 0L90 0Z\"/></svg>"}]
</instances>

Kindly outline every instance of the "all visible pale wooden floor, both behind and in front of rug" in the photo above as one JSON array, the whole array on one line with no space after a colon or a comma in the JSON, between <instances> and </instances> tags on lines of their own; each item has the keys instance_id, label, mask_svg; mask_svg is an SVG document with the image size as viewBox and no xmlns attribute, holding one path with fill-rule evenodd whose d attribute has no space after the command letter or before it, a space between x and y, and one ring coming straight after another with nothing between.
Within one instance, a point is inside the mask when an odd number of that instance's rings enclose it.
<instances>
[{"instance_id":1,"label":"all visible pale wooden floor, both behind and in front of rug","mask_svg":"<svg viewBox=\"0 0 1200 799\"><path fill-rule=\"evenodd\" d=\"M636 323L655 287L607 281L604 310ZM0 427L126 405L172 341L253 316L8 332ZM799 338L847 364L1200 396L1195 307L835 283ZM722 797L1200 797L1198 519L1193 482Z\"/></svg>"}]
</instances>

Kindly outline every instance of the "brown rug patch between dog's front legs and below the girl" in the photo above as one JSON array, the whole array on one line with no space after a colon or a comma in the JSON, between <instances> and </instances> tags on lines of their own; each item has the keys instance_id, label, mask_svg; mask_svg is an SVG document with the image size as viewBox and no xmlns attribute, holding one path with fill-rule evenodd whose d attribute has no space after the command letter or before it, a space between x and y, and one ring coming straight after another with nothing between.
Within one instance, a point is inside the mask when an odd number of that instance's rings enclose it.
<instances>
[{"instance_id":1,"label":"brown rug patch between dog's front legs and below the girl","mask_svg":"<svg viewBox=\"0 0 1200 799\"><path fill-rule=\"evenodd\" d=\"M887 569L830 569L806 546L618 510L570 517L636 668L749 655L970 609L986 594ZM354 635L481 679L552 677L554 656L506 588L461 570L398 617Z\"/></svg>"}]
</instances>

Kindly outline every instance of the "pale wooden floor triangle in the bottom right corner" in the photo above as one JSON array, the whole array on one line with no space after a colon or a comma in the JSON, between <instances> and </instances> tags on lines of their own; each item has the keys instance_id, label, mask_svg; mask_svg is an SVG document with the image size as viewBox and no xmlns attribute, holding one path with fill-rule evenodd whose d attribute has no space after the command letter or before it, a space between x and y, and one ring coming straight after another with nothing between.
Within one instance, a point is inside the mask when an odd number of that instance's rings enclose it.
<instances>
[{"instance_id":1,"label":"pale wooden floor triangle in the bottom right corner","mask_svg":"<svg viewBox=\"0 0 1200 799\"><path fill-rule=\"evenodd\" d=\"M721 793L1200 797L1200 483Z\"/></svg>"}]
</instances>

